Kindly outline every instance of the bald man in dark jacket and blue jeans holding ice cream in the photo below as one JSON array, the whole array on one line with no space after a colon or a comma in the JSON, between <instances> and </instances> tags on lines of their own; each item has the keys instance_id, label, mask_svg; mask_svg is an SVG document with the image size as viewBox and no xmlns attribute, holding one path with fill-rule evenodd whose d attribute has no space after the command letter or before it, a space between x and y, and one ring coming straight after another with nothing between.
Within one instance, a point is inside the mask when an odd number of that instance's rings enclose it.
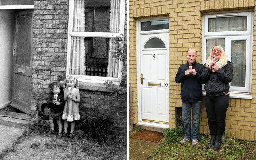
<instances>
[{"instance_id":1,"label":"bald man in dark jacket and blue jeans holding ice cream","mask_svg":"<svg viewBox=\"0 0 256 160\"><path fill-rule=\"evenodd\" d=\"M181 83L182 121L184 138L180 144L186 144L192 139L192 146L199 144L199 122L202 104L202 80L200 75L204 65L196 63L196 50L189 49L186 64L182 64L175 77L176 83ZM192 110L192 127L191 127Z\"/></svg>"}]
</instances>

